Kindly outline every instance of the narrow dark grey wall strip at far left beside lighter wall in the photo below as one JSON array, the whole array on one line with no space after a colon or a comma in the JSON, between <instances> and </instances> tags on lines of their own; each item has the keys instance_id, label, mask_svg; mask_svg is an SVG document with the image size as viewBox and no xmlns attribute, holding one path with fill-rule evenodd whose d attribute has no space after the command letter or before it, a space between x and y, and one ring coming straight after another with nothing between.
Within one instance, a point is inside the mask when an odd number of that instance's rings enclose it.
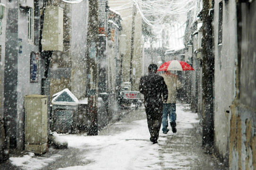
<instances>
[{"instance_id":1,"label":"narrow dark grey wall strip at far left beside lighter wall","mask_svg":"<svg viewBox=\"0 0 256 170\"><path fill-rule=\"evenodd\" d=\"M8 24L6 26L6 57L4 75L4 108L5 117L10 117L9 131L10 146L16 147L17 137L17 60L18 53L15 48L18 44L18 6L17 2L12 2L13 8L6 8Z\"/></svg>"}]
</instances>

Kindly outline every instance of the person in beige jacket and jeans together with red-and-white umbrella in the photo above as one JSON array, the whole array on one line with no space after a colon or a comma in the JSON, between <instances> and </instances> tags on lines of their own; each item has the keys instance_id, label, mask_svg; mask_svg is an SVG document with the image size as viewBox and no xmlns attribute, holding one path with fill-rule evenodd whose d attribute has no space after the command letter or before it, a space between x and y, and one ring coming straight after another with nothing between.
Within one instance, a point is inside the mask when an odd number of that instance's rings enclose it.
<instances>
[{"instance_id":1,"label":"person in beige jacket and jeans together with red-and-white umbrella","mask_svg":"<svg viewBox=\"0 0 256 170\"><path fill-rule=\"evenodd\" d=\"M161 75L164 79L165 84L168 88L168 99L163 103L163 112L162 112L162 132L167 134L169 129L168 127L168 116L170 119L170 125L173 133L177 132L176 129L176 97L177 90L181 87L181 82L177 75L172 74L170 71L185 71L185 70L194 70L188 63L179 60L171 60L164 62L159 68L158 71L164 71Z\"/></svg>"}]
</instances>

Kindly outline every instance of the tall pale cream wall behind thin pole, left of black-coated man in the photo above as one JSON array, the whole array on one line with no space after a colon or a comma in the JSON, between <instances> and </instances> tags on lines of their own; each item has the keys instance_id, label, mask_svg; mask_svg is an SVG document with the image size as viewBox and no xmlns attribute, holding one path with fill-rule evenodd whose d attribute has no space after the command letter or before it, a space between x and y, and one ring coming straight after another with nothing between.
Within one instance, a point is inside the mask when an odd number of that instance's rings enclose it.
<instances>
[{"instance_id":1,"label":"tall pale cream wall behind thin pole, left of black-coated man","mask_svg":"<svg viewBox=\"0 0 256 170\"><path fill-rule=\"evenodd\" d=\"M122 62L122 82L130 81L130 58L131 58L131 31L132 31L132 13L133 13L133 3L130 0L108 0L108 4L111 9L116 10L121 18L122 31L120 35L126 35L121 40L120 46L124 46L125 49L120 50L120 54L123 55ZM126 7L126 8L123 8ZM133 54L133 70L132 79L134 80L133 89L138 90L138 84L142 73L142 55L143 55L143 43L142 40L142 17L137 9L137 14L135 16L135 30L134 30L134 54ZM133 74L134 73L134 74Z\"/></svg>"}]
</instances>

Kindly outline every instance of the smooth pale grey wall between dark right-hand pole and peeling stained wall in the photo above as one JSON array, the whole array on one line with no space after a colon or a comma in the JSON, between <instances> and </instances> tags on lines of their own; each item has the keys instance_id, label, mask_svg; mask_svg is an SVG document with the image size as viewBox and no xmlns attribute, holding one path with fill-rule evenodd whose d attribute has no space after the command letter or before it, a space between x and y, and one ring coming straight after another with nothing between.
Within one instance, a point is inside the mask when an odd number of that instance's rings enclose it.
<instances>
[{"instance_id":1,"label":"smooth pale grey wall between dark right-hand pole and peeling stained wall","mask_svg":"<svg viewBox=\"0 0 256 170\"><path fill-rule=\"evenodd\" d=\"M223 4L222 43L218 43L219 3ZM235 61L237 60L237 15L235 1L214 3L214 144L228 164L230 105L235 98ZM228 110L228 111L227 111Z\"/></svg>"}]
</instances>

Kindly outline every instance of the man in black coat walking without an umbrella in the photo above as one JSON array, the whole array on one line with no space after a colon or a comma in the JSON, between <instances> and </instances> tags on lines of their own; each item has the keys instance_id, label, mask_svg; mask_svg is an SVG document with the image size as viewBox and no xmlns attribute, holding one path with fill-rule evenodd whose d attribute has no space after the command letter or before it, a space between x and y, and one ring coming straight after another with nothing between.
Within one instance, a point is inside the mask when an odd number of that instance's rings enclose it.
<instances>
[{"instance_id":1,"label":"man in black coat walking without an umbrella","mask_svg":"<svg viewBox=\"0 0 256 170\"><path fill-rule=\"evenodd\" d=\"M167 85L163 77L156 74L157 68L156 64L150 64L148 75L142 76L139 83L139 92L144 94L147 125L153 144L157 143L162 124L162 103L168 98Z\"/></svg>"}]
</instances>

